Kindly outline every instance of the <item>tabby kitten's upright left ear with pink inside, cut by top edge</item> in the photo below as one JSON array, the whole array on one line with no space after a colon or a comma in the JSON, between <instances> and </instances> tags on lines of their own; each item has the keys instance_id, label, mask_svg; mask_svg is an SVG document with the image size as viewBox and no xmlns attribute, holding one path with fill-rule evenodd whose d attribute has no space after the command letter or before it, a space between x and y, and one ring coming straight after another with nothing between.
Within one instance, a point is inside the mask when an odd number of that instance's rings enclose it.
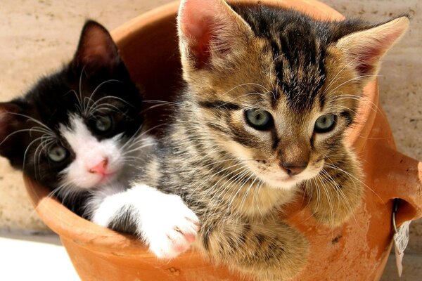
<instances>
[{"instance_id":1,"label":"tabby kitten's upright left ear with pink inside, cut by top edge","mask_svg":"<svg viewBox=\"0 0 422 281\"><path fill-rule=\"evenodd\" d=\"M217 67L253 36L248 23L223 0L182 0L178 25L184 69Z\"/></svg>"}]
</instances>

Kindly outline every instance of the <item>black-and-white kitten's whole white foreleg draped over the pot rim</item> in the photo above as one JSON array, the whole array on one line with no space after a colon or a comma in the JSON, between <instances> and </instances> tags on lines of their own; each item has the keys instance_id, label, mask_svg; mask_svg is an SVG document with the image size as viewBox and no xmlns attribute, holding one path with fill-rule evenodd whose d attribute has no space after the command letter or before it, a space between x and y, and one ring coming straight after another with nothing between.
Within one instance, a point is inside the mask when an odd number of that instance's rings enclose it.
<instances>
[{"instance_id":1,"label":"black-and-white kitten's whole white foreleg draped over the pot rim","mask_svg":"<svg viewBox=\"0 0 422 281\"><path fill-rule=\"evenodd\" d=\"M177 195L134 185L98 202L91 221L139 235L159 258L172 259L196 240L198 218Z\"/></svg>"}]
</instances>

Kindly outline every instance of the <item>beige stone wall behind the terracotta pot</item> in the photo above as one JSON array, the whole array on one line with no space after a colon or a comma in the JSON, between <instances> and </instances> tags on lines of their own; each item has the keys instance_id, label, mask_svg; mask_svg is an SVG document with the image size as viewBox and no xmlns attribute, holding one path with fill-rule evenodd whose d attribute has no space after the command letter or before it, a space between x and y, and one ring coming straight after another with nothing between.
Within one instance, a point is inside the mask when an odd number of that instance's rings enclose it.
<instances>
[{"instance_id":1,"label":"beige stone wall behind the terracotta pot","mask_svg":"<svg viewBox=\"0 0 422 281\"><path fill-rule=\"evenodd\" d=\"M1 1L0 101L18 96L28 85L59 67L75 51L86 18L110 30L169 0ZM399 150L422 159L422 5L419 0L324 0L345 15L385 20L409 13L411 27L388 53L380 77L381 103ZM45 230L27 200L20 173L0 159L0 231ZM414 223L411 249L422 251L422 223Z\"/></svg>"}]
</instances>

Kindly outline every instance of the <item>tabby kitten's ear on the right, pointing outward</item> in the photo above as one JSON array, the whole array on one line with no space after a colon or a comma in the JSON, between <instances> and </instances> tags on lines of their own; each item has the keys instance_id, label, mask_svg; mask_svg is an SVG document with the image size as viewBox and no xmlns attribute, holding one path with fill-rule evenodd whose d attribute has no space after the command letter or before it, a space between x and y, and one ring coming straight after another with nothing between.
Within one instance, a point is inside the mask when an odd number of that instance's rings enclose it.
<instances>
[{"instance_id":1,"label":"tabby kitten's ear on the right, pointing outward","mask_svg":"<svg viewBox=\"0 0 422 281\"><path fill-rule=\"evenodd\" d=\"M378 73L381 58L402 37L407 27L409 18L396 18L369 30L349 34L338 40L335 46L364 84Z\"/></svg>"}]
</instances>

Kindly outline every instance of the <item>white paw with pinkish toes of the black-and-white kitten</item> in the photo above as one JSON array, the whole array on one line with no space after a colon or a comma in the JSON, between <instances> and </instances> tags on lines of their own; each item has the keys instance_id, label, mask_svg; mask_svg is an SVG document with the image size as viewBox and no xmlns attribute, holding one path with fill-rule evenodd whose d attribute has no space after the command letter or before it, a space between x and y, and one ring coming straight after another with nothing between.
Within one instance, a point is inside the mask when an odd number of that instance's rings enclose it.
<instances>
[{"instance_id":1,"label":"white paw with pinkish toes of the black-and-white kitten","mask_svg":"<svg viewBox=\"0 0 422 281\"><path fill-rule=\"evenodd\" d=\"M160 193L153 211L143 216L142 235L149 249L160 259L172 259L196 240L198 217L177 195Z\"/></svg>"}]
</instances>

